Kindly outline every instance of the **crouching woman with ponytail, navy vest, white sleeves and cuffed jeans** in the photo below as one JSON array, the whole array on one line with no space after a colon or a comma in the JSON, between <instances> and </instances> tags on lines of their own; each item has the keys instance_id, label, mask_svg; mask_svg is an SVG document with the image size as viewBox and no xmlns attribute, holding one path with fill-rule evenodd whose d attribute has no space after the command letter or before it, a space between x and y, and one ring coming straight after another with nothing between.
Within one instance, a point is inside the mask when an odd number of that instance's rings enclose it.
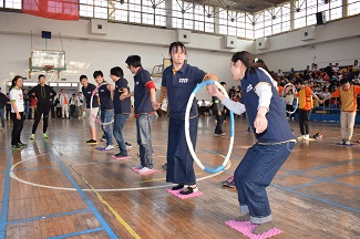
<instances>
[{"instance_id":1,"label":"crouching woman with ponytail, navy vest, white sleeves and cuffed jeans","mask_svg":"<svg viewBox=\"0 0 360 239\"><path fill-rule=\"evenodd\" d=\"M284 114L277 83L265 69L265 63L251 53L237 52L232 58L230 71L244 91L239 103L225 97L215 85L208 87L208 93L217 96L232 112L247 112L258 141L248 148L234 174L240 212L235 220L257 225L253 230L255 235L274 228L266 187L290 156L296 143Z\"/></svg>"}]
</instances>

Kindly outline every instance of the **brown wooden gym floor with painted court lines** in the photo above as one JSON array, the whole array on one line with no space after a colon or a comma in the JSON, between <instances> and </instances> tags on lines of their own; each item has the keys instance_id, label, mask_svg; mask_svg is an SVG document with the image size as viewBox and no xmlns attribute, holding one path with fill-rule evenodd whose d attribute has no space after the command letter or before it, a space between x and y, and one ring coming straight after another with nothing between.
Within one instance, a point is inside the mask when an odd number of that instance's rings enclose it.
<instances>
[{"instance_id":1,"label":"brown wooden gym floor with painted court lines","mask_svg":"<svg viewBox=\"0 0 360 239\"><path fill-rule=\"evenodd\" d=\"M0 238L245 238L224 224L238 216L238 201L236 189L220 185L255 143L245 119L235 119L230 169L210 175L195 166L204 195L186 200L165 190L171 187L162 169L167 121L153 123L154 168L160 172L151 176L131 169L138 164L133 117L124 129L134 145L128 162L112 159L115 150L84 144L90 138L84 119L50 119L49 139L38 133L33 142L32 121L27 121L22 141L29 147L11 152L7 122L0 135ZM290 124L299 136L297 122ZM229 137L213 136L214 117L200 117L198 128L197 156L219 166ZM323 138L298 142L268 187L274 222L284 231L277 238L360 238L360 144L338 146L339 123L311 122L311 133L317 132ZM356 125L354 142L359 137Z\"/></svg>"}]
</instances>

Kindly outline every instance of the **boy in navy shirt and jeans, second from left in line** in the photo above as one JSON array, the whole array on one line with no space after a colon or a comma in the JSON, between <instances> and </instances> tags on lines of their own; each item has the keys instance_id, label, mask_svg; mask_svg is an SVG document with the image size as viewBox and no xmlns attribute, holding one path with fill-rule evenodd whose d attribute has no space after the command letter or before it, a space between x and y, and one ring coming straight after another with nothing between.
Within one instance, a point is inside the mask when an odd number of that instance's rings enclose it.
<instances>
[{"instance_id":1,"label":"boy in navy shirt and jeans, second from left in line","mask_svg":"<svg viewBox=\"0 0 360 239\"><path fill-rule=\"evenodd\" d=\"M114 85L109 84L104 81L104 74L102 71L95 71L93 74L97 85L101 85L97 90L100 98L100 116L102 123L109 123L114 117L114 106L113 106L113 87ZM111 131L110 124L101 125L106 139L105 150L114 149L113 133Z\"/></svg>"}]
</instances>

